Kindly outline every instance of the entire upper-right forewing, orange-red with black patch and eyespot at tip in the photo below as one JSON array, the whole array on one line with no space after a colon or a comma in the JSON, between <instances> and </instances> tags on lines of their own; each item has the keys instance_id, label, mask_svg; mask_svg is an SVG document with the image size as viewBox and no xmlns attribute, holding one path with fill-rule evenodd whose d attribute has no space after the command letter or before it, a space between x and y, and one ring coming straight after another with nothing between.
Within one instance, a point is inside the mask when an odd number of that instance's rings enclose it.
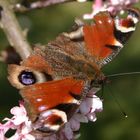
<instances>
[{"instance_id":1,"label":"entire upper-right forewing, orange-red with black patch and eyespot at tip","mask_svg":"<svg viewBox=\"0 0 140 140\"><path fill-rule=\"evenodd\" d=\"M125 18L113 18L109 12L100 12L94 16L93 25L83 27L86 49L99 64L110 62L135 30L139 12L128 11Z\"/></svg>"}]
</instances>

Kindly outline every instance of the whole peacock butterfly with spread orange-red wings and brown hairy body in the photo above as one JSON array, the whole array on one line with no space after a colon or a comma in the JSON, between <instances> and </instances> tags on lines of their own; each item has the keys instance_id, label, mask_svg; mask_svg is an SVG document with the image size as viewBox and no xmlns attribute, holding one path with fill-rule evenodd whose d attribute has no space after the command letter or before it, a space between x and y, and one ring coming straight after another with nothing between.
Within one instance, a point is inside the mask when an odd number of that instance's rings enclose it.
<instances>
[{"instance_id":1,"label":"whole peacock butterfly with spread orange-red wings and brown hairy body","mask_svg":"<svg viewBox=\"0 0 140 140\"><path fill-rule=\"evenodd\" d=\"M102 67L120 52L139 22L137 9L125 11L126 17L99 12L91 24L77 20L74 31L35 47L20 65L9 65L8 79L20 89L35 131L59 131L86 94L101 86Z\"/></svg>"}]
</instances>

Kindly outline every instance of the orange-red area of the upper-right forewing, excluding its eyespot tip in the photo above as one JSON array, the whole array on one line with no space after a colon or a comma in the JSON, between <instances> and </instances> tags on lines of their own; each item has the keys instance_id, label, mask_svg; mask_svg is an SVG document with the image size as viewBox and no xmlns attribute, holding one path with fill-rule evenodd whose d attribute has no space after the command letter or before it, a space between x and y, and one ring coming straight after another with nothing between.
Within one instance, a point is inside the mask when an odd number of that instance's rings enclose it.
<instances>
[{"instance_id":1,"label":"orange-red area of the upper-right forewing, excluding its eyespot tip","mask_svg":"<svg viewBox=\"0 0 140 140\"><path fill-rule=\"evenodd\" d=\"M114 20L109 13L100 13L94 17L95 23L92 26L83 27L84 39L87 50L97 58L105 58L113 50L105 45L115 45L117 41L114 37Z\"/></svg>"}]
</instances>

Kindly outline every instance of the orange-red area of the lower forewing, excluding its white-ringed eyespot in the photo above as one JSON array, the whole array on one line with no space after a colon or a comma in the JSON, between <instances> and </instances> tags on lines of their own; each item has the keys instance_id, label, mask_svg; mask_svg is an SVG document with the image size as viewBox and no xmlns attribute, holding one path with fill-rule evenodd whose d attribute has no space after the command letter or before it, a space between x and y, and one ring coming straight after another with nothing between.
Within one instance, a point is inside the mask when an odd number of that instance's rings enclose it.
<instances>
[{"instance_id":1,"label":"orange-red area of the lower forewing, excluding its white-ringed eyespot","mask_svg":"<svg viewBox=\"0 0 140 140\"><path fill-rule=\"evenodd\" d=\"M67 78L57 81L48 81L25 87L21 90L21 95L35 112L40 113L59 104L78 104L81 99L84 82Z\"/></svg>"}]
</instances>

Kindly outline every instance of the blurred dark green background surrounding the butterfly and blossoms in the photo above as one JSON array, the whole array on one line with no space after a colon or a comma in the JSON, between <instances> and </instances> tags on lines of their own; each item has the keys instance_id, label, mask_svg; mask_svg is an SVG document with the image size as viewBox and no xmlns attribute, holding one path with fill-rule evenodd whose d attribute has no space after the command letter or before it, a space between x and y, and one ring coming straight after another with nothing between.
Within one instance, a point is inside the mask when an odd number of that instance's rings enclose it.
<instances>
[{"instance_id":1,"label":"blurred dark green background surrounding the butterfly and blossoms","mask_svg":"<svg viewBox=\"0 0 140 140\"><path fill-rule=\"evenodd\" d=\"M90 13L91 4L61 4L18 13L17 17L23 29L29 29L28 40L31 44L47 44L59 33L69 31L75 17ZM136 6L140 7L140 4ZM0 50L7 46L8 41L0 30ZM103 69L105 75L134 71L140 72L140 25L120 54ZM103 90L104 110L97 114L96 122L82 124L79 140L140 140L140 74L112 77L109 80L110 83ZM7 80L7 65L0 62L0 121L11 116L10 108L18 105L20 99L18 90ZM122 115L116 99L128 115L127 118Z\"/></svg>"}]
</instances>

